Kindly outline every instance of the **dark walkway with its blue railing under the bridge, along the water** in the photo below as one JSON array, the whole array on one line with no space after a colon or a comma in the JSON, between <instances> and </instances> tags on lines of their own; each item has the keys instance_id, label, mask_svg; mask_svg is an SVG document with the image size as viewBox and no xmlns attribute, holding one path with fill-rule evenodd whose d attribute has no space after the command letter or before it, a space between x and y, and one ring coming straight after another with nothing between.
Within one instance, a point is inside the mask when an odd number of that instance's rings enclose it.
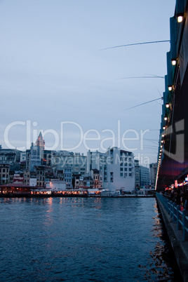
<instances>
[{"instance_id":1,"label":"dark walkway with its blue railing under the bridge, along the water","mask_svg":"<svg viewBox=\"0 0 188 282\"><path fill-rule=\"evenodd\" d=\"M188 210L182 210L159 193L156 193L156 201L182 278L188 281Z\"/></svg>"}]
</instances>

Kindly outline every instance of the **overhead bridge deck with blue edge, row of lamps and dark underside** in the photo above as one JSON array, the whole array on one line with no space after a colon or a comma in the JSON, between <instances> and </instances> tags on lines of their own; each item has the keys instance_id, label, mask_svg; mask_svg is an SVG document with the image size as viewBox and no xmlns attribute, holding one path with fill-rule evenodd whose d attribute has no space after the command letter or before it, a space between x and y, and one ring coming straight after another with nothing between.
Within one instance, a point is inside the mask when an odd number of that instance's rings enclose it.
<instances>
[{"instance_id":1,"label":"overhead bridge deck with blue edge, row of lamps and dark underside","mask_svg":"<svg viewBox=\"0 0 188 282\"><path fill-rule=\"evenodd\" d=\"M188 191L188 0L176 0L159 134L156 190Z\"/></svg>"}]
</instances>

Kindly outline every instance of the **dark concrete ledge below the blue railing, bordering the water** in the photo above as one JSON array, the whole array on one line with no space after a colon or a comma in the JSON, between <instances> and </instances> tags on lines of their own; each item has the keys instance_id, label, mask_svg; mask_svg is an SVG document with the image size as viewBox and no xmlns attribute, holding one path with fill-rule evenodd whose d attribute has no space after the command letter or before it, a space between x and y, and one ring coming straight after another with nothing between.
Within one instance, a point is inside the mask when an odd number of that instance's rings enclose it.
<instances>
[{"instance_id":1,"label":"dark concrete ledge below the blue railing, bordering the water","mask_svg":"<svg viewBox=\"0 0 188 282\"><path fill-rule=\"evenodd\" d=\"M187 236L184 236L182 228L177 230L177 220L173 220L172 215L170 216L170 213L166 210L163 198L164 196L156 193L156 201L159 205L177 264L180 267L182 278L184 281L188 281L188 239L184 238Z\"/></svg>"}]
</instances>

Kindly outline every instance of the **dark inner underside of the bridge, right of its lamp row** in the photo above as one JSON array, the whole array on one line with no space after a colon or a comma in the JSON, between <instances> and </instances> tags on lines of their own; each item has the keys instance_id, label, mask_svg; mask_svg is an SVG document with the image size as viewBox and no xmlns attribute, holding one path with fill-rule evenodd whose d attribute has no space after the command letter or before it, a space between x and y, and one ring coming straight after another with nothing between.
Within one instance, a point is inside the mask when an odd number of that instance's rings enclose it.
<instances>
[{"instance_id":1,"label":"dark inner underside of the bridge, right of its lamp row","mask_svg":"<svg viewBox=\"0 0 188 282\"><path fill-rule=\"evenodd\" d=\"M187 15L187 13L186 13ZM178 37L180 43L179 60L175 70L172 111L168 121L168 134L165 137L163 161L159 170L157 187L167 187L188 174L188 20ZM180 65L179 65L180 64ZM177 126L180 121L182 126ZM178 139L180 138L180 139ZM169 154L170 152L170 154ZM182 158L183 156L183 158Z\"/></svg>"}]
</instances>

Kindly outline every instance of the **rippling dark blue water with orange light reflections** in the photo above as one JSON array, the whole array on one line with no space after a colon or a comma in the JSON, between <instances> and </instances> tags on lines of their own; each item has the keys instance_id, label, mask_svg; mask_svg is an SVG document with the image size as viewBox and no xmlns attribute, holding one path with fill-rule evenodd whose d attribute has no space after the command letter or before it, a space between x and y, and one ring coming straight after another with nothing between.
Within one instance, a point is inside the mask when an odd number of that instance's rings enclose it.
<instances>
[{"instance_id":1,"label":"rippling dark blue water with orange light reflections","mask_svg":"<svg viewBox=\"0 0 188 282\"><path fill-rule=\"evenodd\" d=\"M182 281L156 200L0 199L1 281Z\"/></svg>"}]
</instances>

